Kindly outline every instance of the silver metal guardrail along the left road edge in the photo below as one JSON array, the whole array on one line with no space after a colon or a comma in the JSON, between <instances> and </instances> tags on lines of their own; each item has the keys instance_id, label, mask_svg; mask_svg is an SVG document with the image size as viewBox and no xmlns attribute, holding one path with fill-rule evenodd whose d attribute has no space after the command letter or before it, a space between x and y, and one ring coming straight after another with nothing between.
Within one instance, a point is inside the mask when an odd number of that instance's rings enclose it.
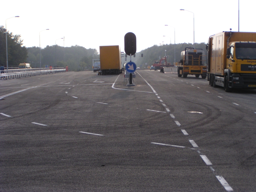
<instances>
[{"instance_id":1,"label":"silver metal guardrail along the left road edge","mask_svg":"<svg viewBox=\"0 0 256 192\"><path fill-rule=\"evenodd\" d=\"M18 71L18 72L17 72ZM14 79L19 77L28 77L28 76L36 76L42 74L51 74L51 73L59 73L66 72L66 69L11 69L5 70L5 73L0 74L1 79Z\"/></svg>"}]
</instances>

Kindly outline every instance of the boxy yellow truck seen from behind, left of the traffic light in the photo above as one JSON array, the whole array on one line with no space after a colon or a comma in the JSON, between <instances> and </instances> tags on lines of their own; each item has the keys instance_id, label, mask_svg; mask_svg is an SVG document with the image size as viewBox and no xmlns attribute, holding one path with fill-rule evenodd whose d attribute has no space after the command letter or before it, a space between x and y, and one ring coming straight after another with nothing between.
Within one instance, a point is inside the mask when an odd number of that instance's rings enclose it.
<instances>
[{"instance_id":1,"label":"boxy yellow truck seen from behind, left of the traffic light","mask_svg":"<svg viewBox=\"0 0 256 192\"><path fill-rule=\"evenodd\" d=\"M100 70L102 75L122 73L119 45L100 46Z\"/></svg>"}]
</instances>

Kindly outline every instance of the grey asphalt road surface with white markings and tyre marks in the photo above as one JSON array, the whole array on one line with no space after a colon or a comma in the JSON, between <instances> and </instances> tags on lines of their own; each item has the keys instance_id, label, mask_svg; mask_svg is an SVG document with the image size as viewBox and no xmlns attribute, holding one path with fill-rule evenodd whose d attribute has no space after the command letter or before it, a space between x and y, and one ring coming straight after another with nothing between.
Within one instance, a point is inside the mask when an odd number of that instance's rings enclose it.
<instances>
[{"instance_id":1,"label":"grey asphalt road surface with white markings and tyre marks","mask_svg":"<svg viewBox=\"0 0 256 192\"><path fill-rule=\"evenodd\" d=\"M256 191L256 91L137 71L0 81L0 191Z\"/></svg>"}]
</instances>

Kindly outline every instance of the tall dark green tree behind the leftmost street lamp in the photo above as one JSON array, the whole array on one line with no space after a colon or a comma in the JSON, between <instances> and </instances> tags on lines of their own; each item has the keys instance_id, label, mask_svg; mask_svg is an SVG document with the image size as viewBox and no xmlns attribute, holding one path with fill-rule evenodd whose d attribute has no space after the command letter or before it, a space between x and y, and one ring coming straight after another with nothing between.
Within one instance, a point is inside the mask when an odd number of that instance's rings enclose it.
<instances>
[{"instance_id":1,"label":"tall dark green tree behind the leftmost street lamp","mask_svg":"<svg viewBox=\"0 0 256 192\"><path fill-rule=\"evenodd\" d=\"M18 66L27 60L27 49L23 45L20 35L13 35L7 31L8 66ZM6 29L0 26L0 65L6 66Z\"/></svg>"}]
</instances>

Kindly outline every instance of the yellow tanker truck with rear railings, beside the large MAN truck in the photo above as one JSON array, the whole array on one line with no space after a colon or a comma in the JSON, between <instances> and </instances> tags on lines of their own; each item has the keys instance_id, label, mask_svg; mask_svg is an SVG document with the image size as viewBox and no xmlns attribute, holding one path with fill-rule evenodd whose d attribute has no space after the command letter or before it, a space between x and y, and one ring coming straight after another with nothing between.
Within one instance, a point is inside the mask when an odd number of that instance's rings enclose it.
<instances>
[{"instance_id":1,"label":"yellow tanker truck with rear railings, beside the large MAN truck","mask_svg":"<svg viewBox=\"0 0 256 192\"><path fill-rule=\"evenodd\" d=\"M195 75L202 79L207 76L206 55L202 49L185 47L181 52L181 60L178 62L178 77L186 78L187 75Z\"/></svg>"}]
</instances>

